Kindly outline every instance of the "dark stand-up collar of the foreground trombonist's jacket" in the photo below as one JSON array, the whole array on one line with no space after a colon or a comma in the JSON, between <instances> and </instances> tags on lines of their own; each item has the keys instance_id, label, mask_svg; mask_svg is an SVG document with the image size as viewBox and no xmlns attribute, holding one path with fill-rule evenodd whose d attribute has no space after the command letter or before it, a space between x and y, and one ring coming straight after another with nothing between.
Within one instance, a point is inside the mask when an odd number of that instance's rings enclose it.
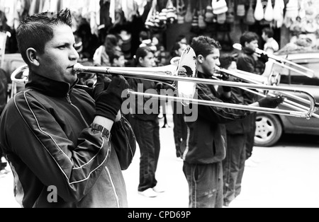
<instances>
[{"instance_id":1,"label":"dark stand-up collar of the foreground trombonist's jacket","mask_svg":"<svg viewBox=\"0 0 319 222\"><path fill-rule=\"evenodd\" d=\"M65 97L78 82L79 78L71 86L69 83L55 81L50 78L35 74L34 72L30 72L28 76L28 83L26 83L26 88L32 88L45 95Z\"/></svg>"}]
</instances>

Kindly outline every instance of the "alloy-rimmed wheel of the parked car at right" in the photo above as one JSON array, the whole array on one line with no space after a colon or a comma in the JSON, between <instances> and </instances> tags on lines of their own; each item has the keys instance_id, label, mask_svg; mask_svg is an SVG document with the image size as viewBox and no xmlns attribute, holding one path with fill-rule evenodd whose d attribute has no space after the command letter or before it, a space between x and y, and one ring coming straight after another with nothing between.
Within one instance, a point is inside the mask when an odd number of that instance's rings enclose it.
<instances>
[{"instance_id":1,"label":"alloy-rimmed wheel of the parked car at right","mask_svg":"<svg viewBox=\"0 0 319 222\"><path fill-rule=\"evenodd\" d=\"M282 126L278 117L268 113L257 114L254 146L273 146L281 134Z\"/></svg>"}]
</instances>

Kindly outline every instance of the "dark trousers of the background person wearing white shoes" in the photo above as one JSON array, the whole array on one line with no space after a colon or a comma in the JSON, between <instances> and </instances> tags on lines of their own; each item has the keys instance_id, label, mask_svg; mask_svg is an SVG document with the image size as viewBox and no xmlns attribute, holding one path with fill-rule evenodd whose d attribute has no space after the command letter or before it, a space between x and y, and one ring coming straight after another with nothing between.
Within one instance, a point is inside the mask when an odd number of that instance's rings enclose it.
<instances>
[{"instance_id":1,"label":"dark trousers of the background person wearing white shoes","mask_svg":"<svg viewBox=\"0 0 319 222\"><path fill-rule=\"evenodd\" d=\"M138 191L155 187L155 173L159 158L159 122L158 119L143 121L130 117L130 124L140 147L140 184Z\"/></svg>"}]
</instances>

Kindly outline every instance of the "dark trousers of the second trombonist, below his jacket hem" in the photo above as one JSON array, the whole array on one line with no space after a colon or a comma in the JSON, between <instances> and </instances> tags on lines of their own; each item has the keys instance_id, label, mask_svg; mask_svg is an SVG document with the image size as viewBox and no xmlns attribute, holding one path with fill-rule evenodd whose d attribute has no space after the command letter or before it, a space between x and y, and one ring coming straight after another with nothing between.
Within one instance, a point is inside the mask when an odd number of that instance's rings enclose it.
<instances>
[{"instance_id":1,"label":"dark trousers of the second trombonist, below his jacket hem","mask_svg":"<svg viewBox=\"0 0 319 222\"><path fill-rule=\"evenodd\" d=\"M184 162L183 171L189 184L189 208L223 207L222 163Z\"/></svg>"}]
</instances>

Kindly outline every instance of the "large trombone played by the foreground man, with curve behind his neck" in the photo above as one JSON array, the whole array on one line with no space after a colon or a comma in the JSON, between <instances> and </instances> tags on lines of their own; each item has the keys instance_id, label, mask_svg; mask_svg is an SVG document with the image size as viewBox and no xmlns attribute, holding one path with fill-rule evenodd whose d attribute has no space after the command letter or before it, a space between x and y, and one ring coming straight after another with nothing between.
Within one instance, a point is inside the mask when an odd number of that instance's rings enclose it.
<instances>
[{"instance_id":1,"label":"large trombone played by the foreground man, with curve behind his neck","mask_svg":"<svg viewBox=\"0 0 319 222\"><path fill-rule=\"evenodd\" d=\"M16 78L17 75L21 75L21 72L24 73L28 69L27 66L21 66L11 74L11 80L16 84L22 83L25 84L27 79ZM262 83L239 83L233 81L220 81L213 79L203 79L197 78L197 64L196 64L196 54L194 49L187 47L184 52L181 54L180 59L174 59L172 64L167 66L160 66L154 68L145 68L145 67L102 67L102 66L82 66L81 64L74 65L74 71L77 74L80 73L94 73L94 74L121 74L128 78L139 78L150 81L174 81L172 88L177 89L178 97L169 96L169 95L157 95L150 93L140 93L129 90L130 95L139 95L147 98L155 98L159 100L170 100L180 102L183 105L189 105L194 103L196 105L208 105L215 107L228 107L238 110L248 110L251 112L269 112L277 115L288 115L293 117L305 117L309 119L313 112L315 112L315 99L313 95L306 91L302 90L291 90L290 88L279 88L276 86L266 86ZM208 100L197 100L194 99L196 93L196 83L209 84L209 85L218 85L218 86L231 86L231 87L240 87L247 89L260 89L260 90L272 90L272 91L293 91L297 93L302 93L308 97L308 103L310 104L307 109L300 110L279 110L267 107L255 107L252 105L240 105L234 103L223 103L217 101L208 101ZM14 93L14 91L13 91ZM302 98L295 97L297 100Z\"/></svg>"}]
</instances>

